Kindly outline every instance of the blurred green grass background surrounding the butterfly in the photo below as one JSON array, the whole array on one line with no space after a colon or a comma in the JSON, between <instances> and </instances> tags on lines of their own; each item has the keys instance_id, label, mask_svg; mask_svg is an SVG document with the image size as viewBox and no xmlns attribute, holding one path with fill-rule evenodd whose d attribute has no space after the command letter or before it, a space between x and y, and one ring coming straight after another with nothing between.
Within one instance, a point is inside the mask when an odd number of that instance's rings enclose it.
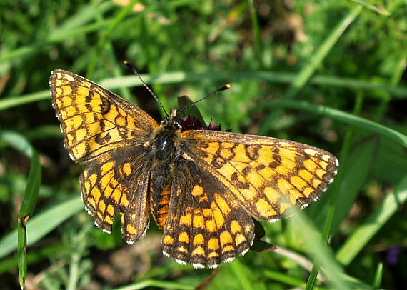
<instances>
[{"instance_id":1,"label":"blurred green grass background surrounding the butterfly","mask_svg":"<svg viewBox=\"0 0 407 290\"><path fill-rule=\"evenodd\" d=\"M26 289L404 289L406 1L1 0L0 11L2 289L19 286L17 261ZM125 59L167 109L228 81L198 104L206 121L338 156L320 201L262 223L276 251L194 270L164 259L153 222L134 246L119 224L96 229L48 81L53 69L73 71L159 121ZM16 251L26 214L27 260Z\"/></svg>"}]
</instances>

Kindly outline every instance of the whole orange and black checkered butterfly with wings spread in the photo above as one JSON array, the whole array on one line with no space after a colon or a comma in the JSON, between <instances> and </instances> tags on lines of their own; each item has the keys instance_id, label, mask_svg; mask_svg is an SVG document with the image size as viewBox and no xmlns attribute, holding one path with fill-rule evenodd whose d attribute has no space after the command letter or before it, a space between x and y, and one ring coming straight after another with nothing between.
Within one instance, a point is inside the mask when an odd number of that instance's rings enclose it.
<instances>
[{"instance_id":1,"label":"whole orange and black checkered butterfly with wings spread","mask_svg":"<svg viewBox=\"0 0 407 290\"><path fill-rule=\"evenodd\" d=\"M315 201L338 169L321 149L221 131L171 110L161 124L93 81L52 71L51 97L64 143L83 162L81 195L96 226L114 216L128 244L149 213L164 229L162 250L180 264L215 268L246 254L252 217L276 221Z\"/></svg>"}]
</instances>

